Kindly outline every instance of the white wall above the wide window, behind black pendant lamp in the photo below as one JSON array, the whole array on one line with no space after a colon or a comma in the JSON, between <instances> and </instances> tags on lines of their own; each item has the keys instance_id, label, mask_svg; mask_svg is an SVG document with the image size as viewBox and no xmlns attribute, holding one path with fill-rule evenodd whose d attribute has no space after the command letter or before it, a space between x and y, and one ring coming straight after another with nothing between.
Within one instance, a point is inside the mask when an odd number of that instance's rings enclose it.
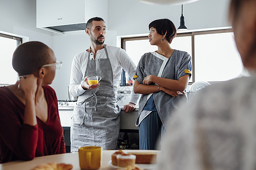
<instances>
[{"instance_id":1,"label":"white wall above the wide window, behind black pendant lamp","mask_svg":"<svg viewBox=\"0 0 256 170\"><path fill-rule=\"evenodd\" d=\"M183 5L188 29L230 26L227 18L229 0L200 0ZM149 5L139 0L109 0L109 29L117 36L148 33L152 20L168 18L179 27L181 5Z\"/></svg>"}]
</instances>

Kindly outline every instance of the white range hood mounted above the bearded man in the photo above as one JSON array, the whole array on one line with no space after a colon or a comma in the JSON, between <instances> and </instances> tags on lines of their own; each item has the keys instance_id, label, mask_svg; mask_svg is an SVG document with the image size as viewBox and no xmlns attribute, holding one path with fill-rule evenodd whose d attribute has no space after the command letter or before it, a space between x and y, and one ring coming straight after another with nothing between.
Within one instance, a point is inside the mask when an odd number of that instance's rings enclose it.
<instances>
[{"instance_id":1,"label":"white range hood mounted above the bearded man","mask_svg":"<svg viewBox=\"0 0 256 170\"><path fill-rule=\"evenodd\" d=\"M82 31L95 16L108 24L108 0L36 0L36 27L47 31Z\"/></svg>"}]
</instances>

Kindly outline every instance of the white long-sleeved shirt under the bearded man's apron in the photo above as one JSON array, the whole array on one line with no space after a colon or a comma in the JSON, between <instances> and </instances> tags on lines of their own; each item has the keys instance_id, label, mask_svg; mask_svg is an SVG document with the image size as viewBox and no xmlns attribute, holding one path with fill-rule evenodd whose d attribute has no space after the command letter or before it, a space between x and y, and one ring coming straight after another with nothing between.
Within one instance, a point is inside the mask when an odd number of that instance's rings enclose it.
<instances>
[{"instance_id":1,"label":"white long-sleeved shirt under the bearded man's apron","mask_svg":"<svg viewBox=\"0 0 256 170\"><path fill-rule=\"evenodd\" d=\"M109 60L112 66L114 91L115 95L117 95L117 87L121 78L122 69L133 78L136 66L125 50L109 45L106 45L106 50L108 51ZM97 51L96 59L100 58L107 58L104 48ZM90 59L94 59L93 53L90 53ZM84 81L85 76L87 76L85 75L87 62L88 52L86 50L73 58L69 84L69 91L73 96L80 96L86 91L82 88L81 84ZM139 94L134 94L134 91L132 91L130 102L137 104L139 96Z\"/></svg>"}]
</instances>

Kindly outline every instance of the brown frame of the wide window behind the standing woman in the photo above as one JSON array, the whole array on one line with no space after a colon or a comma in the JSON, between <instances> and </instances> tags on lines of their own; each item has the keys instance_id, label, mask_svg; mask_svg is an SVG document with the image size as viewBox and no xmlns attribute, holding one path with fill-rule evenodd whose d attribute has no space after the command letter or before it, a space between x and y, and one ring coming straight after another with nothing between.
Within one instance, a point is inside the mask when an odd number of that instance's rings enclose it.
<instances>
[{"instance_id":1,"label":"brown frame of the wide window behind the standing woman","mask_svg":"<svg viewBox=\"0 0 256 170\"><path fill-rule=\"evenodd\" d=\"M179 32L177 31L177 36L176 37L183 37L183 36L191 36L191 52L192 52L192 82L189 82L189 85L195 82L195 75L196 75L196 70L195 70L195 36L196 35L208 35L208 34L214 34L214 33L227 33L227 32L232 32L233 29L231 27L228 28L214 28L214 29L197 29L197 30L192 30L192 31L183 31ZM126 50L125 42L126 41L134 41L134 40L147 40L148 36L132 36L132 37L121 37L121 48ZM214 81L214 82L209 82L210 84L218 83L221 81Z\"/></svg>"}]
</instances>

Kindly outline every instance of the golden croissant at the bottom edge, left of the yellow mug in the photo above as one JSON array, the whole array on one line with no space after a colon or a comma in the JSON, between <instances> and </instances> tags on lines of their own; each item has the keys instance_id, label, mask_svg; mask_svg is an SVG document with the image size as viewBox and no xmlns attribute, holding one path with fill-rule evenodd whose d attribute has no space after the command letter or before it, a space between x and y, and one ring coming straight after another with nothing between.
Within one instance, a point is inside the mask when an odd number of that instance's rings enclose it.
<instances>
[{"instance_id":1,"label":"golden croissant at the bottom edge, left of the yellow mug","mask_svg":"<svg viewBox=\"0 0 256 170\"><path fill-rule=\"evenodd\" d=\"M40 164L31 170L70 170L73 166L71 164L64 163L48 163L48 164Z\"/></svg>"}]
</instances>

